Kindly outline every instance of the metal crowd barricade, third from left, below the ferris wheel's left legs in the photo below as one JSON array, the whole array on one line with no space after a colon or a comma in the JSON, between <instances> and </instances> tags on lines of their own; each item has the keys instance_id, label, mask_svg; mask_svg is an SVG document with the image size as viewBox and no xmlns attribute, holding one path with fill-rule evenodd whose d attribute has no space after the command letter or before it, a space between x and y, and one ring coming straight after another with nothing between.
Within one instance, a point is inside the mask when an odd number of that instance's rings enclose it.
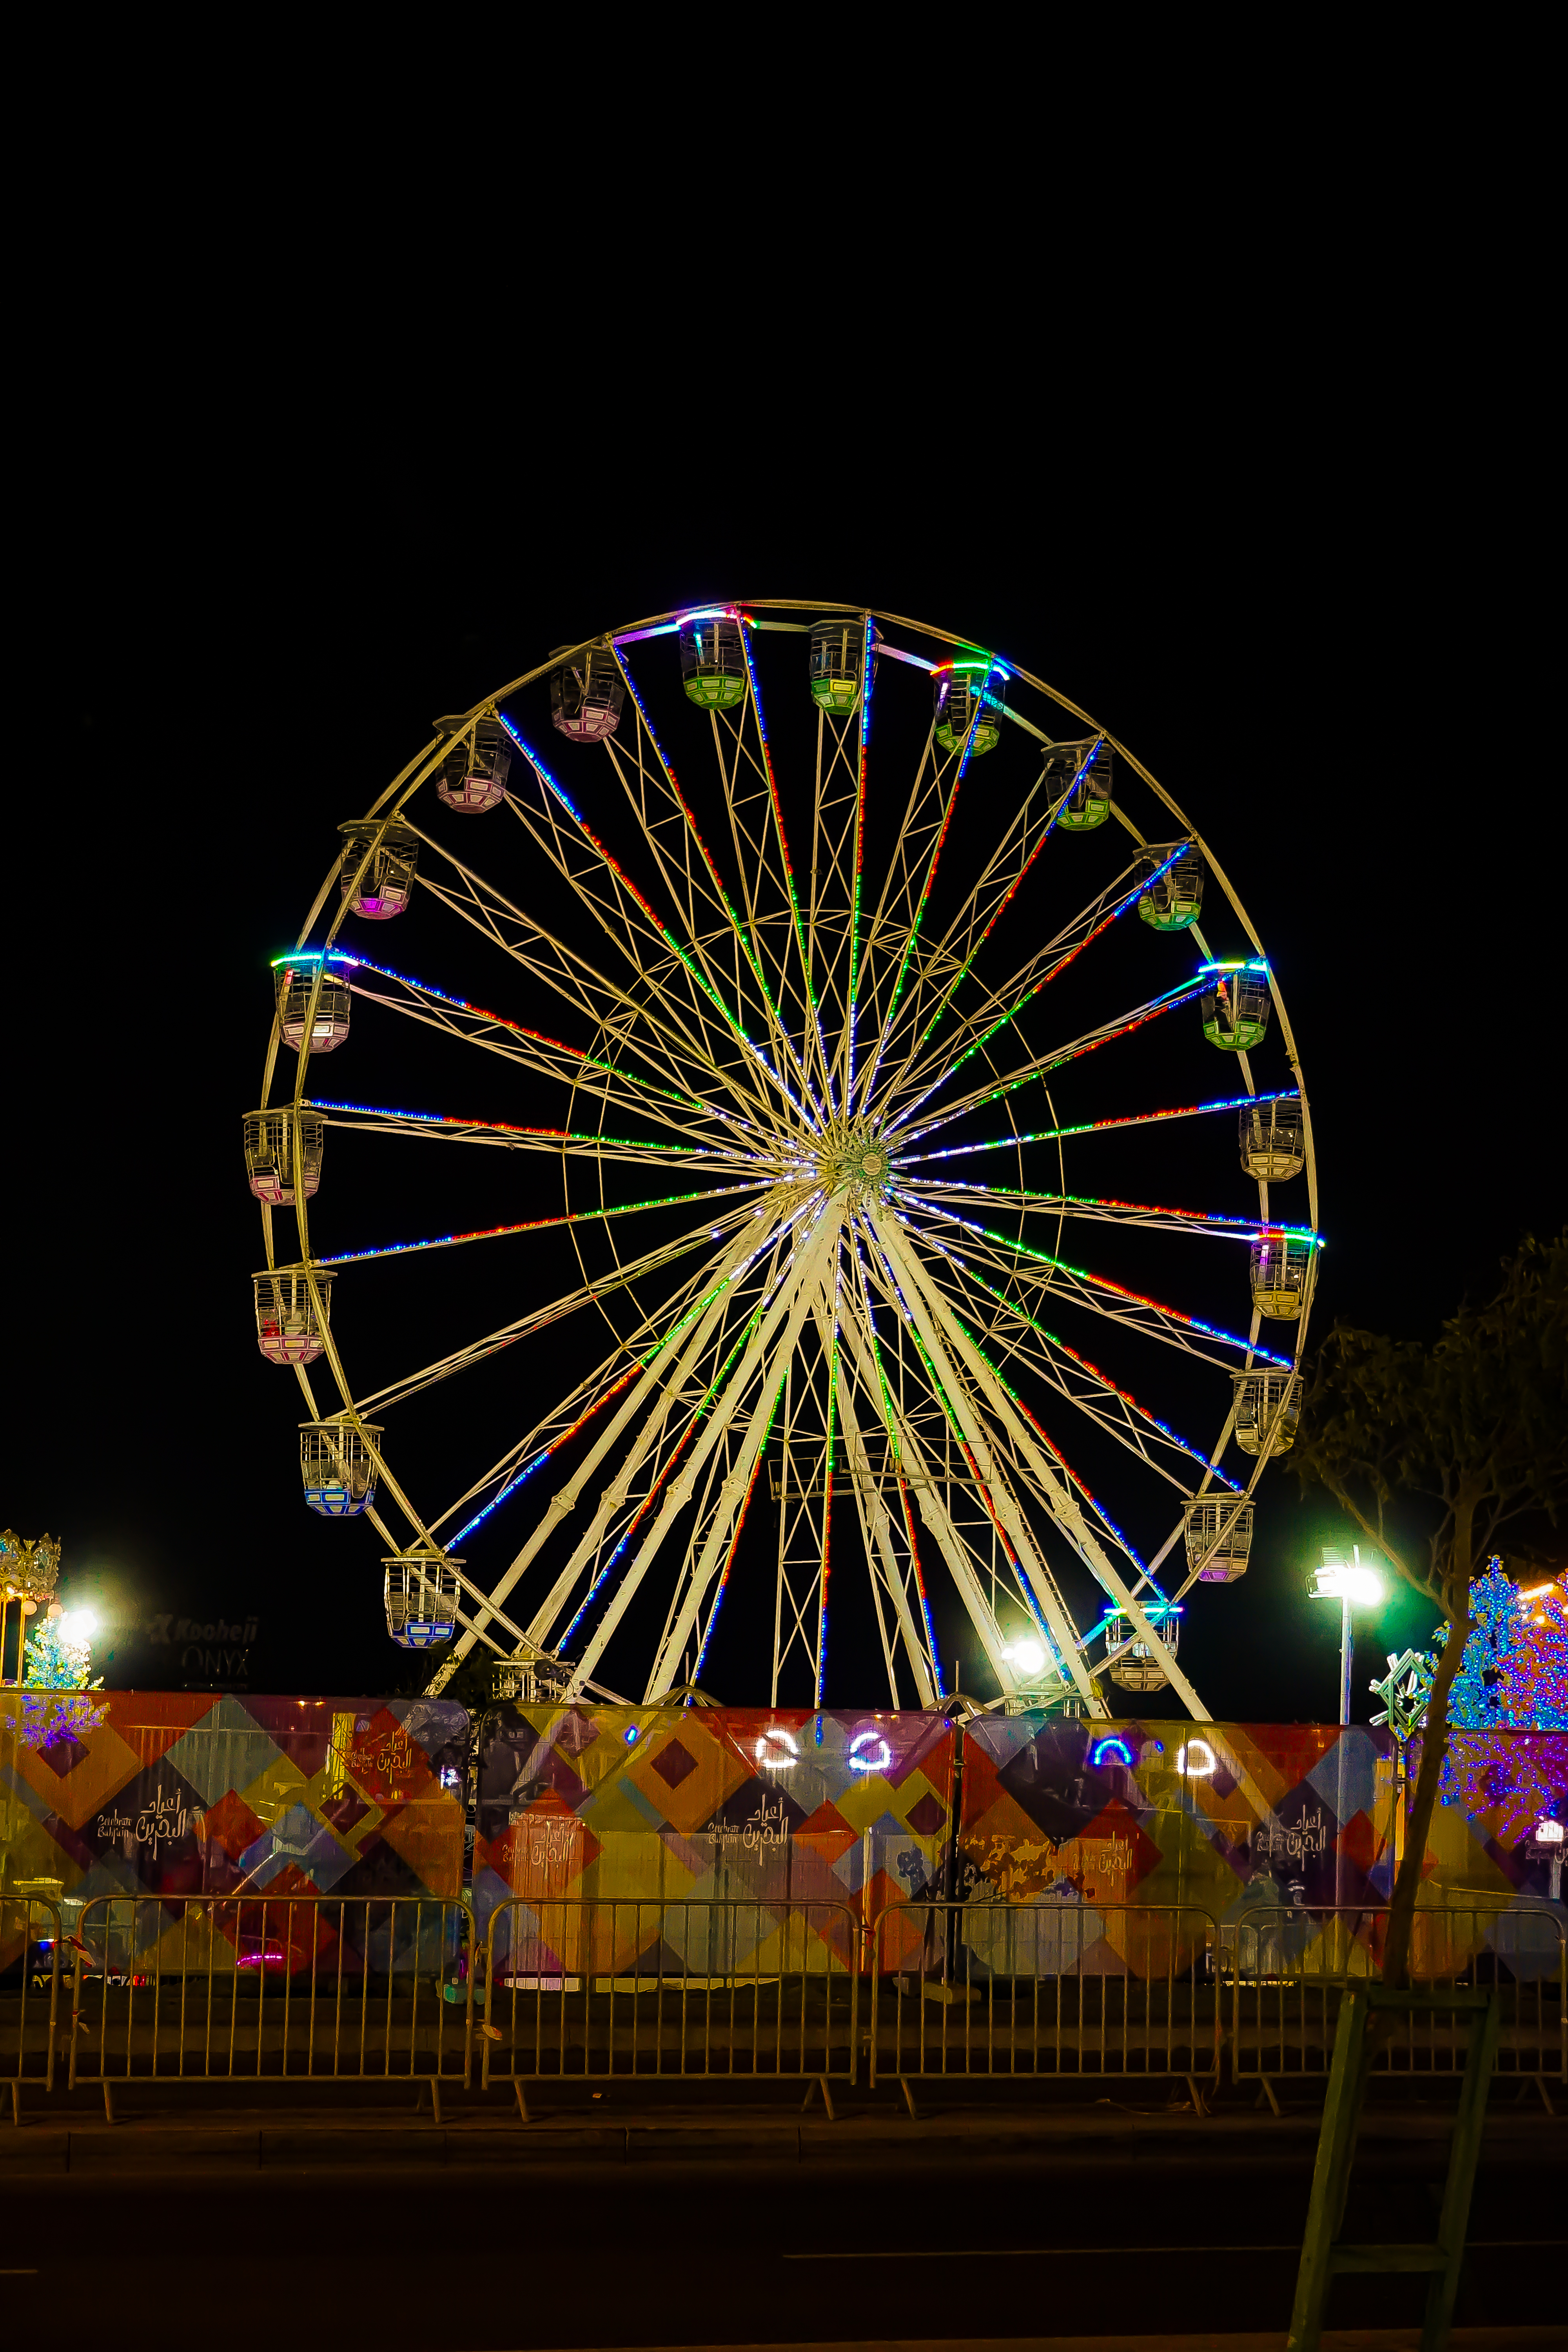
<instances>
[{"instance_id":1,"label":"metal crowd barricade, third from left, below the ferris wheel's left legs","mask_svg":"<svg viewBox=\"0 0 1568 2352\"><path fill-rule=\"evenodd\" d=\"M853 1903L510 1896L484 1940L482 2079L856 2079ZM806 2091L811 2096L811 2091Z\"/></svg>"}]
</instances>

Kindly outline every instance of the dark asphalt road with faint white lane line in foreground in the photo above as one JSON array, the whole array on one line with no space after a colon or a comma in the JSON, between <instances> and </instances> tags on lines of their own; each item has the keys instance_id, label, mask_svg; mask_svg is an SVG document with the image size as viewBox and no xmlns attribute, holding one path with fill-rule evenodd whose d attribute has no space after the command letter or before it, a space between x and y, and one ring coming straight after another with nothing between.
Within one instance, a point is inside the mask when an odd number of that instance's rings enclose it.
<instances>
[{"instance_id":1,"label":"dark asphalt road with faint white lane line in foreground","mask_svg":"<svg viewBox=\"0 0 1568 2352\"><path fill-rule=\"evenodd\" d=\"M120 2352L221 2343L468 2347L886 2338L971 2343L1281 2328L1312 2147L1298 2136L910 2140L776 2157L376 2154L33 2173L7 2150L0 2312L9 2343L82 2326ZM1368 2150L1356 2237L1432 2237L1446 2147ZM1488 2147L1460 2324L1561 2319L1568 2126ZM1422 2281L1342 2279L1331 2324L1418 2319Z\"/></svg>"}]
</instances>

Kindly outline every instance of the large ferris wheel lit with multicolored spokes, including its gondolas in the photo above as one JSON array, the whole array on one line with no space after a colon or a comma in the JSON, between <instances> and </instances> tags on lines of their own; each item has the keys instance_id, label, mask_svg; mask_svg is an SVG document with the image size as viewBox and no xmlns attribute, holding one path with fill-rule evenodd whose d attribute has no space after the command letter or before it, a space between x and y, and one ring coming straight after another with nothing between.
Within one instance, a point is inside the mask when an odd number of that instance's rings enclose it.
<instances>
[{"instance_id":1,"label":"large ferris wheel lit with multicolored spokes, including its gondolas","mask_svg":"<svg viewBox=\"0 0 1568 2352\"><path fill-rule=\"evenodd\" d=\"M879 1649L893 1705L1206 1717L1182 1613L1321 1244L1276 978L1150 769L971 640L757 600L555 649L339 842L244 1117L256 1334L430 1689L722 1653L823 1708Z\"/></svg>"}]
</instances>

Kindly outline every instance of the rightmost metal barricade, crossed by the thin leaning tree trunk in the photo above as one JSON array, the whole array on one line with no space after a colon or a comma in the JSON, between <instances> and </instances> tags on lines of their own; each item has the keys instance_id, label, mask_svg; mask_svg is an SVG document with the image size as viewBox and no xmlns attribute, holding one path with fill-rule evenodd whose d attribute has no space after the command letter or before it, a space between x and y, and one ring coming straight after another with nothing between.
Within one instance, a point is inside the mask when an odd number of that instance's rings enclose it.
<instances>
[{"instance_id":1,"label":"rightmost metal barricade, crossed by the thin leaning tree trunk","mask_svg":"<svg viewBox=\"0 0 1568 2352\"><path fill-rule=\"evenodd\" d=\"M1387 1905L1267 1905L1229 1922L1229 2044L1237 2079L1328 2074L1340 2002L1382 1971ZM1497 2072L1568 2082L1568 1945L1547 1903L1441 1903L1415 1912L1410 1985L1497 1992ZM1467 2011L1413 2011L1378 2044L1378 2074L1465 2072Z\"/></svg>"}]
</instances>

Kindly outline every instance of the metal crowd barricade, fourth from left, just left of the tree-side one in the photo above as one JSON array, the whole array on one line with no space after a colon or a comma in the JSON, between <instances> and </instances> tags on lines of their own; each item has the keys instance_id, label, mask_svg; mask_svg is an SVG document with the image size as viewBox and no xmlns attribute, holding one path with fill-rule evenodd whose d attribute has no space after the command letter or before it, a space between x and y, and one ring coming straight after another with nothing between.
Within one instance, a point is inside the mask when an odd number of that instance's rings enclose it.
<instances>
[{"instance_id":1,"label":"metal crowd barricade, fourth from left, just left of the tree-side one","mask_svg":"<svg viewBox=\"0 0 1568 2352\"><path fill-rule=\"evenodd\" d=\"M870 1931L872 2084L1220 2072L1218 1926L1192 1903L905 1903Z\"/></svg>"}]
</instances>

